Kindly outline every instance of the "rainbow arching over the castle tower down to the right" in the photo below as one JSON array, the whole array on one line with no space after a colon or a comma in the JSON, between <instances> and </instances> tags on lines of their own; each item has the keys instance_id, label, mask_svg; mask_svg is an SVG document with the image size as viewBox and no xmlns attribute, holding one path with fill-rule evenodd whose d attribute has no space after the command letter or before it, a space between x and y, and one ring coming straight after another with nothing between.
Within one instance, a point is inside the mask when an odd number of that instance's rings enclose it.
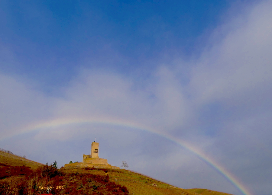
<instances>
[{"instance_id":1,"label":"rainbow arching over the castle tower down to the right","mask_svg":"<svg viewBox=\"0 0 272 195\"><path fill-rule=\"evenodd\" d=\"M160 136L165 137L166 139L169 139L178 145L188 149L189 151L193 152L195 155L199 156L203 161L205 161L208 165L210 165L212 168L214 168L216 171L218 171L221 175L223 175L230 183L232 183L242 194L244 195L251 195L251 193L244 187L241 182L238 181L238 179L235 178L233 174L231 174L229 171L227 171L224 167L219 165L217 162L212 160L209 156L207 156L203 151L200 149L197 149L196 147L190 145L188 142L178 139L174 136L171 136L169 134L161 133L160 131L156 131L148 126L145 126L143 124L135 123L128 120L120 120L115 118L103 118L103 117L92 117L92 118L84 118L84 117L70 117L70 118L59 118L54 120L47 120L47 121L40 121L38 123L32 123L31 125L25 126L24 128L21 128L20 133L27 133L30 131L38 130L41 128L49 128L49 127L57 127L67 124L79 124L79 123L99 123L99 124L108 124L108 125L116 125L116 126L123 126L123 127L129 127L144 131L149 131L152 133L156 133ZM8 137L14 136L10 135ZM7 137L5 137L7 138ZM3 137L2 137L3 139Z\"/></svg>"}]
</instances>

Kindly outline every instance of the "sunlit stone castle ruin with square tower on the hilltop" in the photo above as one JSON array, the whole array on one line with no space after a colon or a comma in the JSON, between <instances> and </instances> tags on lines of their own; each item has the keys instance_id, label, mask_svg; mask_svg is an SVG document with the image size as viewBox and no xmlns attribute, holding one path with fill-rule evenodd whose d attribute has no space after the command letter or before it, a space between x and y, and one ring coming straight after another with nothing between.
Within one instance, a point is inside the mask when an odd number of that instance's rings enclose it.
<instances>
[{"instance_id":1,"label":"sunlit stone castle ruin with square tower on the hilltop","mask_svg":"<svg viewBox=\"0 0 272 195\"><path fill-rule=\"evenodd\" d=\"M64 168L91 167L91 168L120 169L119 167L115 167L115 166L112 166L112 165L108 164L107 159L99 158L98 151L99 151L99 143L98 142L92 142L90 155L83 154L82 162L75 162L75 163L65 164Z\"/></svg>"}]
</instances>

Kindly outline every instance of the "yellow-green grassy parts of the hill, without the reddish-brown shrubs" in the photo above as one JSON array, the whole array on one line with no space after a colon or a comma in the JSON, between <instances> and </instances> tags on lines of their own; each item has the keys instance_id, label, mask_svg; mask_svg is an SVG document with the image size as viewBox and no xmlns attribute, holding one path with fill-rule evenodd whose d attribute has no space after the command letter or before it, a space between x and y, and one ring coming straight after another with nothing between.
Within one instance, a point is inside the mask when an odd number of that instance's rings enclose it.
<instances>
[{"instance_id":1,"label":"yellow-green grassy parts of the hill, without the reddish-brown shrubs","mask_svg":"<svg viewBox=\"0 0 272 195\"><path fill-rule=\"evenodd\" d=\"M26 158L19 157L17 155L12 155L6 152L0 151L0 163L11 165L11 166L27 166L32 169L38 168L43 164L28 160ZM227 193L206 190L206 189L182 189L178 187L174 187L170 184L166 184L162 181L158 181L154 178L145 176L143 174L139 174L133 171L128 170L86 170L86 169L64 169L61 168L60 171L63 172L80 172L80 173L91 173L98 175L108 175L110 180L124 185L128 188L130 194L133 195L230 195ZM153 186L156 184L157 186Z\"/></svg>"}]
</instances>

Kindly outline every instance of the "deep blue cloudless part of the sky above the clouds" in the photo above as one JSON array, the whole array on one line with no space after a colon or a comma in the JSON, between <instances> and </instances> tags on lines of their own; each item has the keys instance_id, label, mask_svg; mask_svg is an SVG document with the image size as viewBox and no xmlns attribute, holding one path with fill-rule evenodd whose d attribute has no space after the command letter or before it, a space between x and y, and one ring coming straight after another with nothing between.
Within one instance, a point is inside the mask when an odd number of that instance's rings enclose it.
<instances>
[{"instance_id":1,"label":"deep blue cloudless part of the sky above the clouds","mask_svg":"<svg viewBox=\"0 0 272 195\"><path fill-rule=\"evenodd\" d=\"M2 1L1 41L11 47L18 63L1 69L25 74L48 91L48 85L65 85L78 67L130 75L136 70L145 78L156 61L199 52L207 39L203 34L222 22L231 5L232 1Z\"/></svg>"}]
</instances>

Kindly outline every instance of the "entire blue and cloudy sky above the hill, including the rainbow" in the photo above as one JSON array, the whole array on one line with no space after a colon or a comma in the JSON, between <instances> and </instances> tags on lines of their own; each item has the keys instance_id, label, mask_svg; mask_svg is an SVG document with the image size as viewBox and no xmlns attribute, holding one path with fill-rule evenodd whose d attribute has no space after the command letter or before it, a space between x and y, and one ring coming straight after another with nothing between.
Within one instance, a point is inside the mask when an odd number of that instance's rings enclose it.
<instances>
[{"instance_id":1,"label":"entire blue and cloudy sky above the hill, including the rainbow","mask_svg":"<svg viewBox=\"0 0 272 195\"><path fill-rule=\"evenodd\" d=\"M1 1L0 148L272 194L271 1Z\"/></svg>"}]
</instances>

